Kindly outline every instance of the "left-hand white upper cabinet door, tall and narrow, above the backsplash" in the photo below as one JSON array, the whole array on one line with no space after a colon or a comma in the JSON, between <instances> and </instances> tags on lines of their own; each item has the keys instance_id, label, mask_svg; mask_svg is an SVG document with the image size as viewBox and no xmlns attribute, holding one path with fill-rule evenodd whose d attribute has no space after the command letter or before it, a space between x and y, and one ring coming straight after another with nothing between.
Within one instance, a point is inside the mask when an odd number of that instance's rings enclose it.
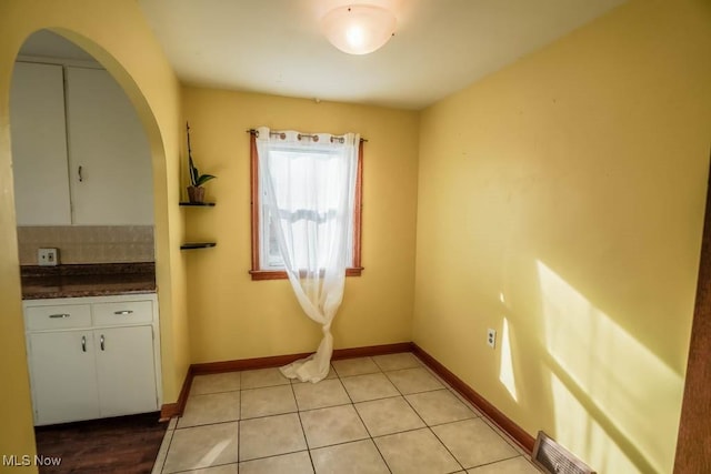
<instances>
[{"instance_id":1,"label":"left-hand white upper cabinet door, tall and narrow, above the backsplash","mask_svg":"<svg viewBox=\"0 0 711 474\"><path fill-rule=\"evenodd\" d=\"M18 224L71 224L61 65L14 64L10 132Z\"/></svg>"}]
</instances>

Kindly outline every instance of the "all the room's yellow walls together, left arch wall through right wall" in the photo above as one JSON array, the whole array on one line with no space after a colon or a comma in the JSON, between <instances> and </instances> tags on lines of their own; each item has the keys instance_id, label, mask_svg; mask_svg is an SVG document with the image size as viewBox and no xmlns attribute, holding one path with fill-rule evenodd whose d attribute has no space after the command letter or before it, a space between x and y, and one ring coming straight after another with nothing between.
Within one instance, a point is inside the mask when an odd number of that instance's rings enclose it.
<instances>
[{"instance_id":1,"label":"all the room's yellow walls together, left arch wall through right wall","mask_svg":"<svg viewBox=\"0 0 711 474\"><path fill-rule=\"evenodd\" d=\"M600 472L670 472L709 165L710 24L708 1L633 1L421 120L186 88L193 155L219 175L208 185L218 205L180 210L178 85L136 2L3 1L0 454L34 450L9 81L22 41L53 28L127 88L151 137L164 402L190 362L308 352L320 337L287 281L247 273L244 130L357 131L370 140L365 271L347 282L336 346L408 341L413 327L419 345L530 433L545 430ZM188 239L218 246L178 252L183 218ZM495 351L487 327L499 331Z\"/></svg>"}]
</instances>

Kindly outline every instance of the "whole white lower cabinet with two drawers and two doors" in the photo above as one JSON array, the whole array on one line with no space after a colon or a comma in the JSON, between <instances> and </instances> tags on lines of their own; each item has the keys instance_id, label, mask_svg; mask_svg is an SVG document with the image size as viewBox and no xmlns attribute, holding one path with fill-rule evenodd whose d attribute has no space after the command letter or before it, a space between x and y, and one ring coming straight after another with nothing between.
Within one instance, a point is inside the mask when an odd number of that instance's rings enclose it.
<instances>
[{"instance_id":1,"label":"whole white lower cabinet with two drawers and two doors","mask_svg":"<svg viewBox=\"0 0 711 474\"><path fill-rule=\"evenodd\" d=\"M160 409L156 295L23 305L36 425Z\"/></svg>"}]
</instances>

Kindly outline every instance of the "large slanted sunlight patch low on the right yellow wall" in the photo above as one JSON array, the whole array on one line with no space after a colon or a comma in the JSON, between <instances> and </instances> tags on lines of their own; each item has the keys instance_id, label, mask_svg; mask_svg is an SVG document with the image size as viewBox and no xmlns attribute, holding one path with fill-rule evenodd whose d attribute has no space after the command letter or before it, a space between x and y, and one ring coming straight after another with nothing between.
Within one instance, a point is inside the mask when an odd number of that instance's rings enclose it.
<instances>
[{"instance_id":1,"label":"large slanted sunlight patch low on the right yellow wall","mask_svg":"<svg viewBox=\"0 0 711 474\"><path fill-rule=\"evenodd\" d=\"M681 376L540 261L538 275L558 441L603 472L620 450L671 472Z\"/></svg>"}]
</instances>

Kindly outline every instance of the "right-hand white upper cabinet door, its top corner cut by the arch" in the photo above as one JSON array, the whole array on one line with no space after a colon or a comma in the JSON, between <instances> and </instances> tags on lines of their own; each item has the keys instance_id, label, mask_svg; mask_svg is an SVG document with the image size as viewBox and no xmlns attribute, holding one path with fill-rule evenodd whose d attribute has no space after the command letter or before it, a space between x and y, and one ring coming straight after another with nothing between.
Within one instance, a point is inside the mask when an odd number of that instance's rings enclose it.
<instances>
[{"instance_id":1,"label":"right-hand white upper cabinet door, its top corner cut by the arch","mask_svg":"<svg viewBox=\"0 0 711 474\"><path fill-rule=\"evenodd\" d=\"M150 147L121 87L104 70L67 68L67 120L73 223L151 225Z\"/></svg>"}]
</instances>

